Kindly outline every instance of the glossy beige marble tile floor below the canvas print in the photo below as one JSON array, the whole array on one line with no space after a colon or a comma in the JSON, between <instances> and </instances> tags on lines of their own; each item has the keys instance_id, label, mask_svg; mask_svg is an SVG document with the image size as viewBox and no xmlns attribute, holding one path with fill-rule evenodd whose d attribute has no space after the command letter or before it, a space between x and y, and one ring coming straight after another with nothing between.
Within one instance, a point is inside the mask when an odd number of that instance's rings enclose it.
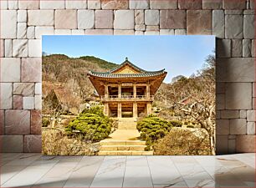
<instances>
[{"instance_id":1,"label":"glossy beige marble tile floor below the canvas print","mask_svg":"<svg viewBox=\"0 0 256 188\"><path fill-rule=\"evenodd\" d=\"M2 154L2 159L2 187L255 186L255 167L247 165L255 160L255 154L127 157Z\"/></svg>"}]
</instances>

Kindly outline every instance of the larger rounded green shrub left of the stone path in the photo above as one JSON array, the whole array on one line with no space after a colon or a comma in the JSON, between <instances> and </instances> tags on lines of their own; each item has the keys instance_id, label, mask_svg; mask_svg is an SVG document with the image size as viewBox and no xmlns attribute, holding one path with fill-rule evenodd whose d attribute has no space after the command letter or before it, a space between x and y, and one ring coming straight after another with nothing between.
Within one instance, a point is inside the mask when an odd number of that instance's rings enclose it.
<instances>
[{"instance_id":1,"label":"larger rounded green shrub left of the stone path","mask_svg":"<svg viewBox=\"0 0 256 188\"><path fill-rule=\"evenodd\" d=\"M96 106L84 110L76 119L69 122L65 130L69 135L82 135L84 140L98 142L110 135L111 127L112 120Z\"/></svg>"}]
</instances>

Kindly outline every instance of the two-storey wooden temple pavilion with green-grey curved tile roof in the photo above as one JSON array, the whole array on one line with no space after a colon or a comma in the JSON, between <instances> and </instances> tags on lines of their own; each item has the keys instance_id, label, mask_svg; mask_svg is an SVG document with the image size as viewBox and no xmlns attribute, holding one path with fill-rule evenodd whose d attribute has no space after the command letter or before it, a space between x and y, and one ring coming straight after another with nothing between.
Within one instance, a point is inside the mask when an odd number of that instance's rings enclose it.
<instances>
[{"instance_id":1,"label":"two-storey wooden temple pavilion with green-grey curved tile roof","mask_svg":"<svg viewBox=\"0 0 256 188\"><path fill-rule=\"evenodd\" d=\"M166 77L165 69L146 71L131 64L128 58L109 72L90 71L88 77L110 117L133 117L151 114L154 94Z\"/></svg>"}]
</instances>

